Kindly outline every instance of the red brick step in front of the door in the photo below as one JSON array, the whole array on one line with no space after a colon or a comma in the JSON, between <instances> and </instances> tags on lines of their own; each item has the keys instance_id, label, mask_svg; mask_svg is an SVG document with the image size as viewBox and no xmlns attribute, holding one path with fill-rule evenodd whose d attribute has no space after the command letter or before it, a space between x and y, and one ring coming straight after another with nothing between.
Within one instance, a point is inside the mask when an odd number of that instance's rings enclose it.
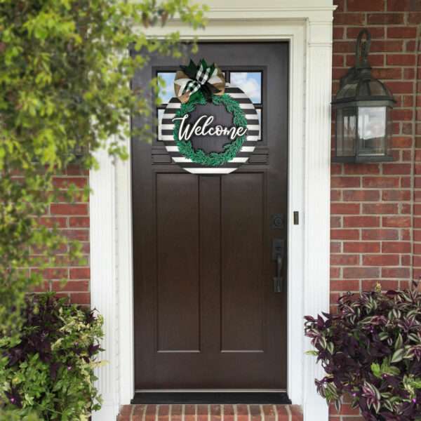
<instances>
[{"instance_id":1,"label":"red brick step in front of the door","mask_svg":"<svg viewBox=\"0 0 421 421\"><path fill-rule=\"evenodd\" d=\"M296 405L125 405L117 421L302 421Z\"/></svg>"}]
</instances>

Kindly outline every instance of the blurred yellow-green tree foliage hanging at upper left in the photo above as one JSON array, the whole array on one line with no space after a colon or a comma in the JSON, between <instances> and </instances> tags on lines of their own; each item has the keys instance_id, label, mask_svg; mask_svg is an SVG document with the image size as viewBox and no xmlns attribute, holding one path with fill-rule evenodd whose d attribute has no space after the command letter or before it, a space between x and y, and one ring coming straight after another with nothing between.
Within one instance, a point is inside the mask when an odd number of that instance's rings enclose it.
<instances>
[{"instance_id":1,"label":"blurred yellow-green tree foliage hanging at upper left","mask_svg":"<svg viewBox=\"0 0 421 421\"><path fill-rule=\"evenodd\" d=\"M18 331L25 293L42 281L27 268L81 256L41 217L88 188L60 190L53 176L75 161L95 168L100 148L126 159L127 122L149 116L150 88L161 86L131 90L135 69L152 52L181 54L179 34L155 39L145 28L177 15L197 29L204 11L188 0L0 0L0 334ZM131 57L128 46L142 53ZM67 261L58 262L62 247Z\"/></svg>"}]
</instances>

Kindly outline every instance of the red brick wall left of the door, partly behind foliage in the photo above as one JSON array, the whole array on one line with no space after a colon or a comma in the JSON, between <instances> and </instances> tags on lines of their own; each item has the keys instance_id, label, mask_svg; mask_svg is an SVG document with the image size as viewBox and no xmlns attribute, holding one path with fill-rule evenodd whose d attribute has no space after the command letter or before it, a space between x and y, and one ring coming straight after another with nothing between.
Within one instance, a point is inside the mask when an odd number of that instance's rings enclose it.
<instances>
[{"instance_id":1,"label":"red brick wall left of the door, partly behind foliage","mask_svg":"<svg viewBox=\"0 0 421 421\"><path fill-rule=\"evenodd\" d=\"M67 168L65 175L55 177L54 183L60 189L66 189L74 185L83 189L88 185L88 173L78 166ZM81 200L81 199L80 199ZM57 225L62 234L69 239L81 241L83 250L83 264L81 262L69 262L66 256L67 249L57 250L58 266L44 271L44 285L37 288L38 291L55 290L58 295L69 297L72 302L88 305L89 293L89 203L65 201L51 203L48 215L41 218L48 226ZM31 270L37 270L32 268ZM66 284L61 282L67 280Z\"/></svg>"}]
</instances>

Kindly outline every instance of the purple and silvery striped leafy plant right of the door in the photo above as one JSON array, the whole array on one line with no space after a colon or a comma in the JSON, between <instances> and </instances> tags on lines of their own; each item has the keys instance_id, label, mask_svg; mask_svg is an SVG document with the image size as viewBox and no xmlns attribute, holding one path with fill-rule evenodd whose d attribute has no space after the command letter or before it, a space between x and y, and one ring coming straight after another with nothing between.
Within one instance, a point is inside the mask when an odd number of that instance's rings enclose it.
<instances>
[{"instance_id":1,"label":"purple and silvery striped leafy plant right of the door","mask_svg":"<svg viewBox=\"0 0 421 421\"><path fill-rule=\"evenodd\" d=\"M421 420L421 294L347 294L338 314L307 316L305 334L326 376L316 387L340 408L345 394L366 420Z\"/></svg>"}]
</instances>

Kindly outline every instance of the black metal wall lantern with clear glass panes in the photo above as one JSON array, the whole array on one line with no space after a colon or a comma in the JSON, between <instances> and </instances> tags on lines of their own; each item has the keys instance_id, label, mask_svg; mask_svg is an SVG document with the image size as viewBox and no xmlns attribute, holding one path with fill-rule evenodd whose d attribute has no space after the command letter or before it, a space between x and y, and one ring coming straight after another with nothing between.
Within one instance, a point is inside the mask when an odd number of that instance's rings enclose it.
<instances>
[{"instance_id":1,"label":"black metal wall lantern with clear glass panes","mask_svg":"<svg viewBox=\"0 0 421 421\"><path fill-rule=\"evenodd\" d=\"M336 111L335 162L393 161L391 110L396 101L384 83L371 74L370 32L356 40L355 66L340 80L332 107Z\"/></svg>"}]
</instances>

